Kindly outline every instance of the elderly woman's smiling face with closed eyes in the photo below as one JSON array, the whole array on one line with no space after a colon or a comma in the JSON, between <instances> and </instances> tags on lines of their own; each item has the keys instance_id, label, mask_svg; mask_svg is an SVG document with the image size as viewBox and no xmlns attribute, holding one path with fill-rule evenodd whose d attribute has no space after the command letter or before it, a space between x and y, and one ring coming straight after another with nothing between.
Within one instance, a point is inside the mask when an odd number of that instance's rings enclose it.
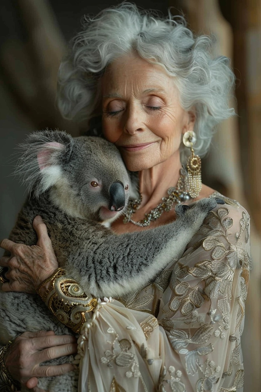
<instances>
[{"instance_id":1,"label":"elderly woman's smiling face with closed eyes","mask_svg":"<svg viewBox=\"0 0 261 392\"><path fill-rule=\"evenodd\" d=\"M181 134L193 130L195 116L180 106L173 77L129 54L107 67L101 87L104 136L129 170L148 169L173 154L179 162Z\"/></svg>"}]
</instances>

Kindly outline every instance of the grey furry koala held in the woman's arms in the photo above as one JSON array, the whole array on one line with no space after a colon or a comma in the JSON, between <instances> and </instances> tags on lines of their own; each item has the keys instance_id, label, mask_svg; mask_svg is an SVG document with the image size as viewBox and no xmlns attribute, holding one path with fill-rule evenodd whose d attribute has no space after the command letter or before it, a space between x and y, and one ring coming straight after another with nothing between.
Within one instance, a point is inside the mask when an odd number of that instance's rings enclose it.
<instances>
[{"instance_id":1,"label":"grey furry koala held in the woman's arms","mask_svg":"<svg viewBox=\"0 0 261 392\"><path fill-rule=\"evenodd\" d=\"M65 132L43 131L31 134L21 148L24 153L18 162L18 174L34 196L27 198L9 238L36 244L32 221L40 214L59 266L65 266L68 274L94 297L118 297L144 287L167 264L182 256L206 215L217 205L213 198L202 199L191 209L177 205L173 223L115 234L105 226L125 211L135 184L114 145L97 137L72 138ZM92 187L92 181L98 186ZM4 344L27 330L72 334L36 295L1 292L0 311ZM73 357L50 363L68 361L72 362ZM38 386L50 392L77 391L77 370L42 377Z\"/></svg>"}]
</instances>

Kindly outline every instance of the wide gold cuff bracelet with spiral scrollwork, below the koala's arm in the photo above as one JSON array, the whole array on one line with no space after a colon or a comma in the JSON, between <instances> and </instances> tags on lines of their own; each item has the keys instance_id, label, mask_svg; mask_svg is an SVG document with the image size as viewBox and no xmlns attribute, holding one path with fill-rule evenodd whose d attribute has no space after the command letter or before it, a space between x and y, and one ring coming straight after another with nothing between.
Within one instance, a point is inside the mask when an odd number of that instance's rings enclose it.
<instances>
[{"instance_id":1,"label":"wide gold cuff bracelet with spiral scrollwork, below the koala's arm","mask_svg":"<svg viewBox=\"0 0 261 392\"><path fill-rule=\"evenodd\" d=\"M48 282L51 282L51 285L42 294L41 288ZM97 298L87 296L75 279L66 276L64 268L56 269L54 274L41 283L36 292L54 316L76 333L86 322L85 313L91 312L97 306Z\"/></svg>"}]
</instances>

